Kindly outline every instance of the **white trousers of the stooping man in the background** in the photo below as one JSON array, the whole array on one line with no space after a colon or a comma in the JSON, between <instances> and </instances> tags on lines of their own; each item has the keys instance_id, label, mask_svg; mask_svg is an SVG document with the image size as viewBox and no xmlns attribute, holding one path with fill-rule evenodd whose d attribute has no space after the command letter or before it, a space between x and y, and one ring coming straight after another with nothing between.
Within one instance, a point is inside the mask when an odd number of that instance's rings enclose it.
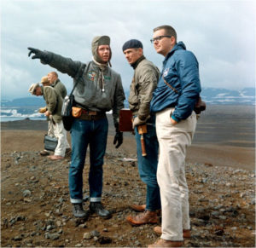
<instances>
[{"instance_id":1,"label":"white trousers of the stooping man in the background","mask_svg":"<svg viewBox=\"0 0 256 248\"><path fill-rule=\"evenodd\" d=\"M58 139L58 145L55 148L55 155L64 157L66 149L70 148L67 142L67 131L64 129L62 121L53 124L53 129L55 137Z\"/></svg>"}]
</instances>

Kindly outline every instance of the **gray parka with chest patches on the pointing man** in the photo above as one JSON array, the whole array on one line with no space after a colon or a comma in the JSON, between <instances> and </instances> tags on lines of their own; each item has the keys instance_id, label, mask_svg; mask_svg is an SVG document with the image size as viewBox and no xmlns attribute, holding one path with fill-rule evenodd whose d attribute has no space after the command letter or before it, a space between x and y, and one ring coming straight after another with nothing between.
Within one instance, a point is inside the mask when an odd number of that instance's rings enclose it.
<instances>
[{"instance_id":1,"label":"gray parka with chest patches on the pointing man","mask_svg":"<svg viewBox=\"0 0 256 248\"><path fill-rule=\"evenodd\" d=\"M98 41L93 40L92 49L99 45ZM80 107L97 112L108 112L112 109L113 124L118 124L119 110L124 107L125 100L119 73L114 72L109 66L101 66L96 61L84 64L49 51L44 51L44 61L41 59L41 62L67 73L73 78L73 84L79 82L73 95Z\"/></svg>"}]
</instances>

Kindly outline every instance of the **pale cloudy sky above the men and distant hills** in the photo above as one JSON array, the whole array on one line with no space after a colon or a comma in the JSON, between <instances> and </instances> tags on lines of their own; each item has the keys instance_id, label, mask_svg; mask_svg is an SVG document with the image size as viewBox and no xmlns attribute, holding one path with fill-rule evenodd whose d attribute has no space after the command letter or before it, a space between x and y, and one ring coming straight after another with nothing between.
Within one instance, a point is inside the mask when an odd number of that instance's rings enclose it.
<instances>
[{"instance_id":1,"label":"pale cloudy sky above the men and distant hills","mask_svg":"<svg viewBox=\"0 0 256 248\"><path fill-rule=\"evenodd\" d=\"M28 97L31 84L55 71L29 58L27 47L73 61L91 61L91 40L111 37L112 67L129 90L133 69L123 44L131 38L161 70L150 43L156 26L171 25L200 66L202 88L255 87L256 4L251 0L0 0L1 97ZM69 93L73 78L59 72Z\"/></svg>"}]
</instances>

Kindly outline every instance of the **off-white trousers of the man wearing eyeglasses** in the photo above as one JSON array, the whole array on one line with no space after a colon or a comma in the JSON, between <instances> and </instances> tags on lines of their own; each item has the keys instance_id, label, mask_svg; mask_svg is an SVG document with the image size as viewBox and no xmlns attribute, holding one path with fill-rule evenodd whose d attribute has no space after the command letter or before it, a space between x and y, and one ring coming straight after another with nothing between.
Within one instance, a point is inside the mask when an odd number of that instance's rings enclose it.
<instances>
[{"instance_id":1,"label":"off-white trousers of the man wearing eyeglasses","mask_svg":"<svg viewBox=\"0 0 256 248\"><path fill-rule=\"evenodd\" d=\"M162 239L183 240L183 229L190 229L189 189L185 176L187 147L195 134L195 112L173 125L174 108L156 113L156 132L160 145L157 182L162 206Z\"/></svg>"}]
</instances>

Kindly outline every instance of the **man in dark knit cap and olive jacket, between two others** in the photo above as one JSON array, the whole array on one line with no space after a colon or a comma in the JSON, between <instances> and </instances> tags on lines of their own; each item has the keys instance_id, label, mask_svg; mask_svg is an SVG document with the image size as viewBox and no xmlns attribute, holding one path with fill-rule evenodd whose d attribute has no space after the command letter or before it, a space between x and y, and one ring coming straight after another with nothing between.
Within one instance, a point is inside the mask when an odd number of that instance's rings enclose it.
<instances>
[{"instance_id":1,"label":"man in dark knit cap and olive jacket, between two others","mask_svg":"<svg viewBox=\"0 0 256 248\"><path fill-rule=\"evenodd\" d=\"M147 184L146 205L131 205L131 208L143 213L128 216L131 225L157 223L157 211L160 210L160 189L156 180L158 163L158 141L155 132L155 115L150 116L150 101L159 79L159 69L143 55L143 43L131 39L123 45L123 52L128 63L134 69L130 86L129 104L133 115L133 128L137 141L138 171ZM146 124L147 133L143 134L146 156L142 155L141 135L138 126Z\"/></svg>"}]
</instances>

